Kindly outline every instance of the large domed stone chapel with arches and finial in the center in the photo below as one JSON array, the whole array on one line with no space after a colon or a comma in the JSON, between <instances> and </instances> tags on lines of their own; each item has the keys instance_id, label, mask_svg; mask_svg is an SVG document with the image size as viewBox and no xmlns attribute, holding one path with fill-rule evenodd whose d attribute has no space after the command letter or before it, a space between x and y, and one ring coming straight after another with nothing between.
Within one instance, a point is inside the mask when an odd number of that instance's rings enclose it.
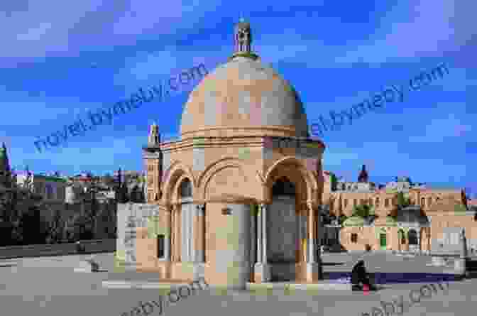
<instances>
[{"instance_id":1,"label":"large domed stone chapel with arches and finial in the center","mask_svg":"<svg viewBox=\"0 0 477 316\"><path fill-rule=\"evenodd\" d=\"M151 126L146 194L159 211L154 234L137 230L141 271L226 288L321 278L325 146L309 138L290 82L251 43L241 20L234 53L190 93L179 140L161 142Z\"/></svg>"}]
</instances>

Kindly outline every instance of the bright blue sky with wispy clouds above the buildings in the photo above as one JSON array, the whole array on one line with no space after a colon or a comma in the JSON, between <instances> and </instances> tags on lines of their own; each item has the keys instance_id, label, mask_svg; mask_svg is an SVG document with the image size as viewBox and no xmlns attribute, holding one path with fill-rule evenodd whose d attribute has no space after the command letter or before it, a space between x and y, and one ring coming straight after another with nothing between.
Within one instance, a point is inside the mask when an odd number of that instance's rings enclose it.
<instances>
[{"instance_id":1,"label":"bright blue sky with wispy clouds above the buildings","mask_svg":"<svg viewBox=\"0 0 477 316\"><path fill-rule=\"evenodd\" d=\"M242 14L253 50L299 92L309 124L445 62L449 74L432 85L324 134L324 168L356 180L364 163L375 182L409 175L475 195L475 1L292 3L2 1L0 141L12 167L143 170L148 126L156 121L163 137L176 136L197 82L66 146L38 153L33 142L181 70L204 63L212 71L231 55Z\"/></svg>"}]
</instances>

